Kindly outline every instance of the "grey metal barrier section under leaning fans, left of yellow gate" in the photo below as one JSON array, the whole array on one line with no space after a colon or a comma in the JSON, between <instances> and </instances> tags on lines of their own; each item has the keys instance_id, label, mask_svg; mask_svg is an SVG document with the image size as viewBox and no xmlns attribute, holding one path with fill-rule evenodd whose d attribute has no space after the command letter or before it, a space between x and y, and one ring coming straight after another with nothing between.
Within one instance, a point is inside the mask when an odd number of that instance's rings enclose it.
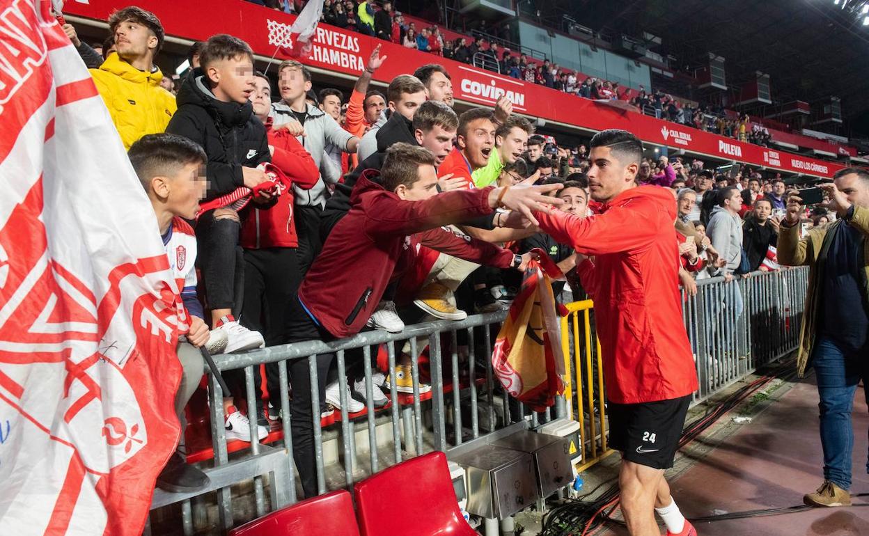
<instances>
[{"instance_id":1,"label":"grey metal barrier section under leaning fans, left of yellow gate","mask_svg":"<svg viewBox=\"0 0 869 536\"><path fill-rule=\"evenodd\" d=\"M308 360L312 379L311 407L315 416L315 471L319 493L324 493L329 488L352 486L368 474L408 457L435 449L448 451L460 447L467 440L505 430L514 423L527 426L524 425L526 415L529 415L528 424L536 426L538 415L504 396L494 380L490 359L493 339L506 314L503 311L477 314L464 321L432 321L408 326L400 334L368 331L329 343L305 341L244 354L216 355L215 361L221 371L244 370L247 400L255 400L255 382L260 378L262 364L277 363L281 392L270 396L277 396L281 407L289 407L287 363ZM400 394L395 382L391 382L388 392L391 402L381 409L380 415L375 415L378 412L375 412L372 401L372 346L380 345L386 345L388 374L392 379L395 379L396 359L400 359L397 356L406 355L410 361L413 393ZM428 392L428 386L420 380L419 357L426 345L431 381ZM368 406L361 414L351 416L347 413L345 398L345 353L358 349L362 349ZM342 397L340 417L336 417L334 424L327 426L322 426L316 388L316 355L324 353L336 354ZM256 419L251 418L252 441L249 450L230 457L222 427L223 396L218 382L209 376L209 416L214 447L214 467L204 469L211 479L209 489L196 494L167 493L158 489L152 502L152 509L180 502L185 534L194 533L194 517L202 518L205 515L196 513L197 508L204 510L204 505L197 505L194 499L208 493L216 493L218 524L222 530L233 526L231 486L240 482L253 480L257 517L268 510L264 491L267 483L271 510L299 498L289 412L282 414L282 433L271 445L256 440ZM548 420L550 412L541 414L541 418ZM366 426L359 426L359 420L365 420ZM387 432L383 432L382 428L387 428ZM378 429L381 429L381 433L378 433ZM361 436L359 440L357 435ZM378 439L381 441L378 442ZM366 450L367 456L364 455ZM360 457L365 459L360 460ZM332 464L335 467L328 466L328 460L335 460L336 463ZM331 470L329 474L328 470Z\"/></svg>"}]
</instances>

